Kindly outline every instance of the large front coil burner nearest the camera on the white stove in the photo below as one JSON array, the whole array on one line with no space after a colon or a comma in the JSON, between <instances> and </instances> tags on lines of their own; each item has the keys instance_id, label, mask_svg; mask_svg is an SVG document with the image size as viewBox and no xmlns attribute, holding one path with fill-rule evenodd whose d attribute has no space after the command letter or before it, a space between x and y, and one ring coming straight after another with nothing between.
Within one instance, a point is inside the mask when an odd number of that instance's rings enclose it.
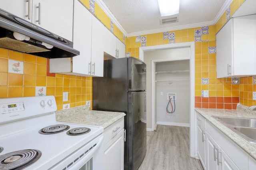
<instances>
[{"instance_id":1,"label":"large front coil burner nearest the camera on the white stove","mask_svg":"<svg viewBox=\"0 0 256 170\"><path fill-rule=\"evenodd\" d=\"M21 170L36 162L42 155L40 150L18 150L0 155L1 170Z\"/></svg>"}]
</instances>

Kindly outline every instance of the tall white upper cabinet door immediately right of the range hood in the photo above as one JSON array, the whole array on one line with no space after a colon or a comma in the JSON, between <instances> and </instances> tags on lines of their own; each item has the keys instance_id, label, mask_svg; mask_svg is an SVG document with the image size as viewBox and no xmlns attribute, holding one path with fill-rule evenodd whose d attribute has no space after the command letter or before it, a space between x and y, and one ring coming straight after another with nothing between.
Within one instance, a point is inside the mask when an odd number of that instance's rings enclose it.
<instances>
[{"instance_id":1,"label":"tall white upper cabinet door immediately right of the range hood","mask_svg":"<svg viewBox=\"0 0 256 170\"><path fill-rule=\"evenodd\" d=\"M72 71L90 75L92 47L92 14L78 1L74 1L74 49L80 55L73 57Z\"/></svg>"}]
</instances>

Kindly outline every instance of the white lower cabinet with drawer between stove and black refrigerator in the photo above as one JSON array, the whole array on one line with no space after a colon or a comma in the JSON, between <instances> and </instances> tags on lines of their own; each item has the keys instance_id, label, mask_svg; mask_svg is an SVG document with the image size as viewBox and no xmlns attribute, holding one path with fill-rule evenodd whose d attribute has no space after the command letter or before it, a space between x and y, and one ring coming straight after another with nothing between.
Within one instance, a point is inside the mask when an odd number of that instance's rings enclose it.
<instances>
[{"instance_id":1,"label":"white lower cabinet with drawer between stove and black refrigerator","mask_svg":"<svg viewBox=\"0 0 256 170\"><path fill-rule=\"evenodd\" d=\"M104 130L104 170L124 169L124 118Z\"/></svg>"}]
</instances>

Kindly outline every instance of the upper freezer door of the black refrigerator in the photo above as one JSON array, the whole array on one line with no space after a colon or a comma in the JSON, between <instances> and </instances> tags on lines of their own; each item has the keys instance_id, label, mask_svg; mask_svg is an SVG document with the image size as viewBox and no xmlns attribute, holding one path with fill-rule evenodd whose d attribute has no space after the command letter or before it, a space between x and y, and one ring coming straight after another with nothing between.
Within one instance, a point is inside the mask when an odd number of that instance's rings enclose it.
<instances>
[{"instance_id":1,"label":"upper freezer door of the black refrigerator","mask_svg":"<svg viewBox=\"0 0 256 170\"><path fill-rule=\"evenodd\" d=\"M146 64L134 57L128 58L128 91L146 90Z\"/></svg>"}]
</instances>

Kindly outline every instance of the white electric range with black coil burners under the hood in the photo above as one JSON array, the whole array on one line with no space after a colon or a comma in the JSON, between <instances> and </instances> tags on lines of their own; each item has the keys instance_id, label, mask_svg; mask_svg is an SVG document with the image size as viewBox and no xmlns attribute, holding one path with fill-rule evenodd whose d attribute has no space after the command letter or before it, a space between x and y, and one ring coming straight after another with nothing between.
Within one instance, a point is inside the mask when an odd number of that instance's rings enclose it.
<instances>
[{"instance_id":1,"label":"white electric range with black coil burners under the hood","mask_svg":"<svg viewBox=\"0 0 256 170\"><path fill-rule=\"evenodd\" d=\"M103 127L57 122L56 110L54 96L0 99L0 170L103 169Z\"/></svg>"}]
</instances>

